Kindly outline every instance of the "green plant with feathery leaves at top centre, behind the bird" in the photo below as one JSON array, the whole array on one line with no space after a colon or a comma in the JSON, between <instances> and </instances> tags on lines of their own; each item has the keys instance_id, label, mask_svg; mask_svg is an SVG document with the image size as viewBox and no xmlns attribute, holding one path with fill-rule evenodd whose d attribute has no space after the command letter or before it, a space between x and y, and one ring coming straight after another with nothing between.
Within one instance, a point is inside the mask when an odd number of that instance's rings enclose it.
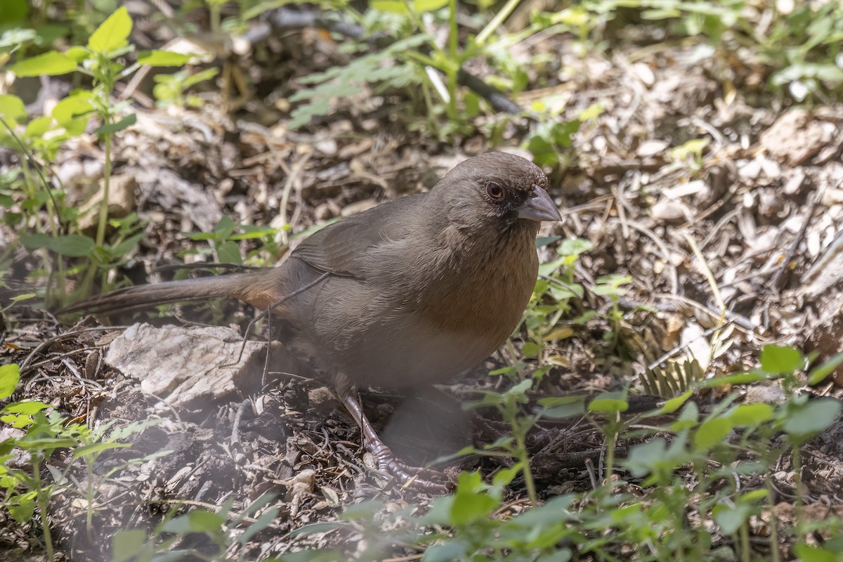
<instances>
[{"instance_id":1,"label":"green plant with feathery leaves at top centre, behind the bird","mask_svg":"<svg viewBox=\"0 0 843 562\"><path fill-rule=\"evenodd\" d=\"M463 92L459 87L459 75L465 62L476 57L486 58L503 72L510 72L512 79L500 85L513 91L526 85L524 68L511 61L506 45L496 37L503 20L517 5L518 0L509 0L480 32L469 34L462 41L456 0L379 0L371 3L362 16L346 8L344 12L362 23L366 32L375 37L373 42L379 48L358 57L346 67L330 68L299 79L299 83L315 85L291 97L291 101L305 103L293 110L290 126L303 126L314 116L326 115L331 99L357 94L368 83L374 86L376 93L401 88L411 99L423 104L426 125L438 136L464 131L467 121L481 110L480 97L474 92ZM444 46L438 44L432 33L434 22L448 29ZM395 37L395 40L385 45L391 40L382 35ZM350 50L359 48L357 45L347 47ZM444 78L440 78L439 72ZM418 87L421 87L421 99L417 95ZM447 121L440 122L438 115L446 116Z\"/></svg>"}]
</instances>

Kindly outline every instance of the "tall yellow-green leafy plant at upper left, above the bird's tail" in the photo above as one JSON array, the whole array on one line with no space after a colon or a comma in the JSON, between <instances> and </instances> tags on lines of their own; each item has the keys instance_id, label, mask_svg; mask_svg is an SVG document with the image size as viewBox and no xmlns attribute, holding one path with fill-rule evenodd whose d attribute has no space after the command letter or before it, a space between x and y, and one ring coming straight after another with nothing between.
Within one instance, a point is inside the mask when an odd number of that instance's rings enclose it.
<instances>
[{"instance_id":1,"label":"tall yellow-green leafy plant at upper left, above the bird's tail","mask_svg":"<svg viewBox=\"0 0 843 562\"><path fill-rule=\"evenodd\" d=\"M18 149L24 163L19 170L21 179L13 181L10 186L13 192L9 199L0 202L7 208L19 209L17 213L8 213L7 221L35 222L37 225L36 233L21 236L27 249L44 249L59 257L55 268L50 267L50 261L45 261L45 269L50 271L60 289L56 300L61 300L65 292L63 282L66 274L62 258L84 258L87 261L78 292L89 294L94 275L101 270L105 283L106 270L141 238L135 233L127 234L124 228L115 241L106 244L112 139L115 133L131 126L136 120L135 114L127 114L128 102L115 104L111 94L115 83L143 65L177 66L183 64L186 57L165 51L148 51L141 53L136 63L126 66L123 57L134 51L134 45L128 42L131 31L132 19L126 8L120 8L94 30L86 46L74 46L64 52L46 51L9 67L19 77L81 72L91 80L91 88L74 90L56 104L51 115L27 122L24 105L19 98L9 95L0 97L0 118L5 127L0 134L0 143ZM77 211L63 204L62 190L51 189L48 181L52 175L50 163L55 160L56 151L69 139L82 135L91 116L101 123L96 132L105 147L102 198L93 239L78 232L75 221ZM14 188L19 188L20 193L14 193ZM37 217L41 209L46 211L46 224ZM33 220L26 220L29 217ZM126 227L130 223L137 226L137 220L133 223L123 220L117 226ZM48 283L48 287L51 286L52 283Z\"/></svg>"}]
</instances>

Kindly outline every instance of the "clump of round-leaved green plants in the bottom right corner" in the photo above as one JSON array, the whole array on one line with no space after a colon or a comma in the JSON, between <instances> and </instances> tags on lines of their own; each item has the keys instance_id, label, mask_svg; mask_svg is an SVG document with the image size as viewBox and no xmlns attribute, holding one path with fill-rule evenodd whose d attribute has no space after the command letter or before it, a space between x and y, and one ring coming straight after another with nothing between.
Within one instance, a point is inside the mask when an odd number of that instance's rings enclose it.
<instances>
[{"instance_id":1,"label":"clump of round-leaved green plants in the bottom right corner","mask_svg":"<svg viewBox=\"0 0 843 562\"><path fill-rule=\"evenodd\" d=\"M808 379L817 382L827 376L843 356L815 367ZM736 373L698 383L698 388L728 387L737 383L765 383L781 379L790 397L782 404L733 404L736 396L722 399L710 414L701 419L696 404L687 402L692 391L669 400L655 414L663 415L682 408L679 418L671 425L669 442L656 438L632 447L629 458L623 462L631 474L643 477L642 485L651 487L653 506L651 516L658 515L658 534L666 541L653 543L653 549L670 556L677 551L688 554L689 559L706 555L711 545L711 532L705 527L686 523L685 512L690 496L700 498L695 511L699 517L711 518L720 532L733 536L739 546L741 558L750 559L749 517L762 510L772 513L770 470L782 454L792 458L794 474L800 472L800 447L808 437L828 427L837 415L840 404L831 399L815 399L808 404L804 394L796 394L796 372L807 365L807 359L797 350L776 345L765 345L760 356L760 367L752 372ZM730 438L729 436L733 436ZM784 436L783 442L778 436ZM783 445L783 446L782 446ZM738 462L741 454L749 459ZM712 464L713 462L713 464ZM689 465L695 473L695 483L690 490L681 485L679 468ZM750 475L763 476L766 487L739 490L735 483ZM797 484L798 489L798 484ZM797 493L797 498L799 494ZM798 499L797 499L798 506ZM797 538L803 527L797 509ZM771 525L773 559L777 559L778 540L775 522ZM834 528L832 524L830 528ZM801 540L800 540L801 542ZM696 554L693 554L696 553Z\"/></svg>"}]
</instances>

